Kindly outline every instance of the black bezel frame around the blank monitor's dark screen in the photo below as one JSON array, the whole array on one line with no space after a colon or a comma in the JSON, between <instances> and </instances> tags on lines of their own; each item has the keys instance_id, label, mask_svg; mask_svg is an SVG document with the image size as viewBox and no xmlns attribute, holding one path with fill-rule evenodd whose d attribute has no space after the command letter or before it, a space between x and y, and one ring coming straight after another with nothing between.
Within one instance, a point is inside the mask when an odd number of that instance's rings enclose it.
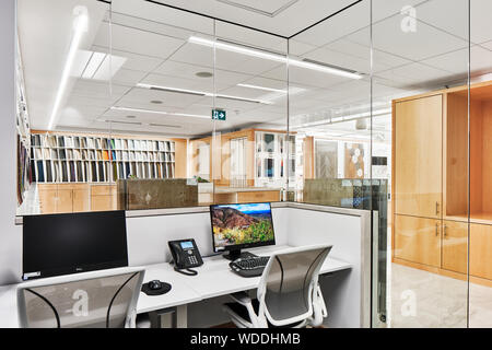
<instances>
[{"instance_id":1,"label":"black bezel frame around the blank monitor's dark screen","mask_svg":"<svg viewBox=\"0 0 492 350\"><path fill-rule=\"evenodd\" d=\"M120 215L125 220L125 256L126 259L121 260L114 260L114 261L104 261L101 264L92 264L92 265L82 265L82 266L74 266L74 267L60 267L57 269L47 269L38 271L39 276L25 276L26 273L33 273L32 271L25 271L25 254L24 254L24 225L25 222L37 219L39 217L43 218L49 218L49 217L70 217L70 215L92 215L92 214L114 214L114 215ZM70 213L59 213L59 214L39 214L39 215L25 215L23 217L23 233L22 233L22 280L34 280L39 278L48 278L48 277L56 277L56 276L62 276L62 275L73 275L73 273L83 273L89 271L97 271L97 270L105 270L105 269L113 269L113 268L120 268L120 267L128 267L128 232L127 232L127 224L126 224L126 214L125 210L112 210L112 211L86 211L86 212L70 212ZM37 271L36 271L37 272Z\"/></svg>"}]
</instances>

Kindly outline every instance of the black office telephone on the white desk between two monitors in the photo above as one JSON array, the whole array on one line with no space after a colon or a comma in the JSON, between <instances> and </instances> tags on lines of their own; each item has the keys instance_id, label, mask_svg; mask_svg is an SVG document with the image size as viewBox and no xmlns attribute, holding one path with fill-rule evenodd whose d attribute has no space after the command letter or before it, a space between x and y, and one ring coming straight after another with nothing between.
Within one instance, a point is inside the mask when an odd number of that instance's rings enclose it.
<instances>
[{"instance_id":1,"label":"black office telephone on the white desk between two monitors","mask_svg":"<svg viewBox=\"0 0 492 350\"><path fill-rule=\"evenodd\" d=\"M187 276L197 275L198 271L191 270L190 268L202 266L203 260L201 259L195 240L169 241L168 244L175 265L174 269Z\"/></svg>"}]
</instances>

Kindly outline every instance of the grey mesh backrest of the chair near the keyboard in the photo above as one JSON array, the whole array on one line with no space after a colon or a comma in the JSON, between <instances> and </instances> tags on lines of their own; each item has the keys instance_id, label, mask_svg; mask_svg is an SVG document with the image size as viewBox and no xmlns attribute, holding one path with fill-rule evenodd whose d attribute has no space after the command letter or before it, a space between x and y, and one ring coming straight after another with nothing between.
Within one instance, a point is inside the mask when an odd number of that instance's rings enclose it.
<instances>
[{"instance_id":1,"label":"grey mesh backrest of the chair near the keyboard","mask_svg":"<svg viewBox=\"0 0 492 350\"><path fill-rule=\"evenodd\" d=\"M260 312L283 326L313 315L313 291L331 245L289 248L270 257L258 288Z\"/></svg>"}]
</instances>

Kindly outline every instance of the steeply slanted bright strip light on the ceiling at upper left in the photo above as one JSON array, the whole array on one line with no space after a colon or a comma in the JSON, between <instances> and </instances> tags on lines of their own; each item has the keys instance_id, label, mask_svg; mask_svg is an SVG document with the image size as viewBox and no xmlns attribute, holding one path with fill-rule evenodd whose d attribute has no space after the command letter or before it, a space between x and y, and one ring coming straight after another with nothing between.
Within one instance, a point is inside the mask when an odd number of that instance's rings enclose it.
<instances>
[{"instance_id":1,"label":"steeply slanted bright strip light on the ceiling at upper left","mask_svg":"<svg viewBox=\"0 0 492 350\"><path fill-rule=\"evenodd\" d=\"M77 50L79 48L83 34L87 32L87 23L89 23L87 9L85 7L75 7L73 13L77 15L73 22L74 34L72 37L72 42L70 44L69 54L67 56L67 62L65 63L63 72L61 73L60 85L58 86L58 92L55 98L55 104L52 106L51 116L49 118L48 130L52 130L55 126L55 119L57 118L58 110L60 109L65 90L67 88L70 78L70 72L72 71L72 66Z\"/></svg>"}]
</instances>

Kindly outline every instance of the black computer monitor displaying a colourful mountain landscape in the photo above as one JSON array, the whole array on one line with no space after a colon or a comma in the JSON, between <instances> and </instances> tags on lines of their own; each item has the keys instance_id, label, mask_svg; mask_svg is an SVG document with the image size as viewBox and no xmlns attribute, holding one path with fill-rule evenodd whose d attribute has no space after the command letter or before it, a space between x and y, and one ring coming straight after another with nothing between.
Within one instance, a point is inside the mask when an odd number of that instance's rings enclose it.
<instances>
[{"instance_id":1,"label":"black computer monitor displaying a colourful mountain landscape","mask_svg":"<svg viewBox=\"0 0 492 350\"><path fill-rule=\"evenodd\" d=\"M213 250L229 250L229 259L251 255L243 248L276 244L270 203L210 206L210 219Z\"/></svg>"}]
</instances>

